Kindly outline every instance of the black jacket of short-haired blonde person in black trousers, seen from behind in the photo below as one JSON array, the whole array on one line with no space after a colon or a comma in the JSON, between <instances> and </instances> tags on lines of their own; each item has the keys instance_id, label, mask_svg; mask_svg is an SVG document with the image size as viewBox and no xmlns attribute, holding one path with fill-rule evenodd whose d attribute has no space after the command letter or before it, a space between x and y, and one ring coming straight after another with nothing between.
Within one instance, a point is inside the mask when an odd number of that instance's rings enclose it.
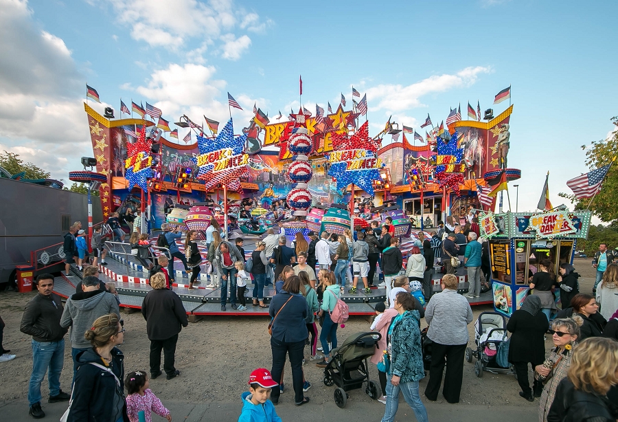
<instances>
[{"instance_id":1,"label":"black jacket of short-haired blonde person in black trousers, seen from behind","mask_svg":"<svg viewBox=\"0 0 618 422\"><path fill-rule=\"evenodd\" d=\"M148 340L167 340L189 325L187 311L176 292L155 289L148 292L141 304L141 314L146 320Z\"/></svg>"}]
</instances>

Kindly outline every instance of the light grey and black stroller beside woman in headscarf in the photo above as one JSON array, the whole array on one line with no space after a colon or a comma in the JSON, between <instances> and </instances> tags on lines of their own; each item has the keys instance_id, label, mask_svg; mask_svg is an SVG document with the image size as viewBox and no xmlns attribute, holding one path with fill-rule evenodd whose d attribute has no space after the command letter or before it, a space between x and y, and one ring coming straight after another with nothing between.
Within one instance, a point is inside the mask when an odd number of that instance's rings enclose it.
<instances>
[{"instance_id":1,"label":"light grey and black stroller beside woman in headscarf","mask_svg":"<svg viewBox=\"0 0 618 422\"><path fill-rule=\"evenodd\" d=\"M477 362L474 362L474 374L477 377L483 377L483 370L492 374L515 375L512 365L504 368L496 362L500 344L507 341L506 324L506 318L496 312L483 312L474 322L474 344L477 350L466 348L466 360L472 362L472 357L477 358Z\"/></svg>"}]
</instances>

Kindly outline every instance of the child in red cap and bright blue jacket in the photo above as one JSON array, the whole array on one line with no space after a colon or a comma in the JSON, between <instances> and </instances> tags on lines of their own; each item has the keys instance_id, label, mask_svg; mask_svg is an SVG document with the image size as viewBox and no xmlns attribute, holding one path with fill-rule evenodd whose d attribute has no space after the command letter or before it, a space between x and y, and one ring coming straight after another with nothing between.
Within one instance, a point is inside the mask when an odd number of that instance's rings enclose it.
<instances>
[{"instance_id":1,"label":"child in red cap and bright blue jacket","mask_svg":"<svg viewBox=\"0 0 618 422\"><path fill-rule=\"evenodd\" d=\"M279 386L273 381L268 369L254 370L249 375L248 384L249 391L243 392L240 396L243 406L238 422L281 422L281 418L277 416L275 411L275 405L268 400L273 388Z\"/></svg>"}]
</instances>

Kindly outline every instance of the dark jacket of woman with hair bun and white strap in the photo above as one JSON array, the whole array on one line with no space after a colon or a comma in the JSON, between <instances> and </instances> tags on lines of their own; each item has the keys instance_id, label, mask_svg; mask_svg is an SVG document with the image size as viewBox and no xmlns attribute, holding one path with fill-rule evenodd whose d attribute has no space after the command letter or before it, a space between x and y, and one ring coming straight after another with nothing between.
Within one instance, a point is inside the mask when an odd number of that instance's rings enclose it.
<instances>
[{"instance_id":1,"label":"dark jacket of woman with hair bun and white strap","mask_svg":"<svg viewBox=\"0 0 618 422\"><path fill-rule=\"evenodd\" d=\"M120 381L120 387L117 387L116 380L110 373L89 363L103 364L94 348L89 348L76 356L78 371L67 422L117 421L114 419L113 402L115 395L121 396L118 399L124 401L124 355L118 348L113 348L111 355L113 362L111 370ZM125 422L129 420L126 403L122 409L122 419Z\"/></svg>"}]
</instances>

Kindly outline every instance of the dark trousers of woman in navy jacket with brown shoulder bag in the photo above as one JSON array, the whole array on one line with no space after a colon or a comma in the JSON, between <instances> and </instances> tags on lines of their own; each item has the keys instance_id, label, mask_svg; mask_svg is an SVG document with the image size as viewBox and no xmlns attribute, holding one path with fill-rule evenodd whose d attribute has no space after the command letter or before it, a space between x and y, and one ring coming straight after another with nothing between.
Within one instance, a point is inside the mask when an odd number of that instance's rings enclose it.
<instances>
[{"instance_id":1,"label":"dark trousers of woman in navy jacket with brown shoulder bag","mask_svg":"<svg viewBox=\"0 0 618 422\"><path fill-rule=\"evenodd\" d=\"M273 352L273 368L271 375L273 380L279 382L283 373L284 365L286 364L286 355L290 355L290 366L292 366L292 385L294 386L294 402L302 403L303 395L303 352L305 349L305 340L295 343L286 343L271 337L271 351ZM271 400L279 401L281 390L273 388L271 392Z\"/></svg>"}]
</instances>

